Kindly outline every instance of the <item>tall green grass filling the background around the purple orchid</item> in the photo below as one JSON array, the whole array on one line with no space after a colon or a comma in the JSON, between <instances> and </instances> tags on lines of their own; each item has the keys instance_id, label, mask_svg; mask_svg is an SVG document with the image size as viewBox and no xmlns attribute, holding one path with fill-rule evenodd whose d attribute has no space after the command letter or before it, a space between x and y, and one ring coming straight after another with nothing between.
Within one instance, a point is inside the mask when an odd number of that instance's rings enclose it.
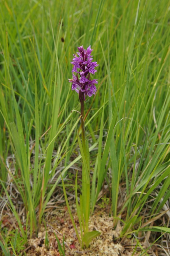
<instances>
[{"instance_id":1,"label":"tall green grass filling the background around the purple orchid","mask_svg":"<svg viewBox=\"0 0 170 256\"><path fill-rule=\"evenodd\" d=\"M121 237L170 232L163 222L161 229L150 226L170 196L169 6L169 0L1 1L0 223L10 210L23 243L37 234L61 186L60 172L67 177L81 158L80 118L71 113L80 103L68 78L82 44L91 44L99 64L97 93L85 102L92 210L107 183ZM24 224L15 191L25 206ZM0 233L9 255L13 233ZM21 242L13 237L19 255Z\"/></svg>"}]
</instances>

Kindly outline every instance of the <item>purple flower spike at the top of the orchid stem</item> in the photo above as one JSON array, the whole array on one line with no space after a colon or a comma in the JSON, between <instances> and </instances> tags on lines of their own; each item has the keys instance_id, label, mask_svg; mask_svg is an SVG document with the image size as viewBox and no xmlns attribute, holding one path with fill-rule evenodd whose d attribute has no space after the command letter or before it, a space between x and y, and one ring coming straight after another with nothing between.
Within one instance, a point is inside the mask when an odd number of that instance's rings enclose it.
<instances>
[{"instance_id":1,"label":"purple flower spike at the top of the orchid stem","mask_svg":"<svg viewBox=\"0 0 170 256\"><path fill-rule=\"evenodd\" d=\"M69 79L69 82L73 83L71 89L78 92L79 99L85 100L85 96L91 97L97 91L94 84L98 84L98 82L96 79L91 80L90 75L94 75L95 72L97 72L94 68L99 65L96 61L92 62L91 52L93 50L91 49L91 46L89 46L87 50L83 48L83 45L77 48L78 57L76 54L73 54L74 58L73 61L71 61L71 64L74 65L72 68L73 78ZM77 73L77 76L73 74L74 72Z\"/></svg>"}]
</instances>

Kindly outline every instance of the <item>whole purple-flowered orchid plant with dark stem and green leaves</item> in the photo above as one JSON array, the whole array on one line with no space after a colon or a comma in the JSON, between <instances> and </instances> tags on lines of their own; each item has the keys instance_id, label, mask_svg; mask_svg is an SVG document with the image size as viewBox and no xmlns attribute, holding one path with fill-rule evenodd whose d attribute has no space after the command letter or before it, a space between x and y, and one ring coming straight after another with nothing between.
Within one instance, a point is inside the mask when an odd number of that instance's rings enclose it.
<instances>
[{"instance_id":1,"label":"whole purple-flowered orchid plant with dark stem and green leaves","mask_svg":"<svg viewBox=\"0 0 170 256\"><path fill-rule=\"evenodd\" d=\"M80 152L83 160L83 168L82 168L82 195L80 195L80 205L78 204L78 193L77 193L77 177L78 172L76 173L76 184L75 184L75 194L76 194L76 207L77 207L77 214L78 220L80 224L80 232L81 232L81 239L78 234L75 222L73 220L70 207L68 204L66 191L64 188L63 183L63 191L66 200L66 204L70 213L70 217L75 228L76 234L78 236L79 243L84 247L89 246L91 240L100 235L99 231L90 231L89 232L89 216L90 216L90 208L91 208L91 196L90 196L90 156L89 156L89 148L88 148L88 141L85 140L85 124L84 124L84 101L85 97L91 97L93 94L96 93L97 89L95 84L98 84L96 79L91 80L91 74L94 75L97 70L95 67L99 66L97 62L92 62L92 55L91 46L84 49L83 46L78 47L78 56L73 54L74 58L71 61L73 64L72 68L72 79L69 79L69 82L72 83L72 90L75 90L78 93L79 100L81 103L81 134L82 134L82 142L77 131L78 137L78 144L80 147ZM76 75L74 74L76 73ZM77 111L78 112L78 111Z\"/></svg>"}]
</instances>

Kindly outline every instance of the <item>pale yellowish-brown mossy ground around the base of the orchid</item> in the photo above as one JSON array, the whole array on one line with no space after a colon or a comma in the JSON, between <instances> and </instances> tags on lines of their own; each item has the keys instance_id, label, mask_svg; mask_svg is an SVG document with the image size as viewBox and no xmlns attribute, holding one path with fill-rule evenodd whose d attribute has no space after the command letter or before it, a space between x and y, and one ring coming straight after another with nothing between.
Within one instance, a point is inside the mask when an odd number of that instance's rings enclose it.
<instances>
[{"instance_id":1,"label":"pale yellowish-brown mossy ground around the base of the orchid","mask_svg":"<svg viewBox=\"0 0 170 256\"><path fill-rule=\"evenodd\" d=\"M106 210L106 209L105 209ZM123 241L123 244L118 242L116 238L119 236L121 231L120 223L117 224L116 230L113 226L113 217L109 217L109 214L96 209L94 214L89 220L89 231L98 230L101 232L100 236L94 238L90 243L89 248L82 249L76 232L73 228L68 213L67 207L65 206L62 211L52 211L48 213L50 222L46 221L46 228L44 225L41 226L38 233L38 237L29 240L29 246L26 248L27 256L60 256L58 251L58 244L55 238L55 234L58 237L63 247L63 235L65 244L65 255L66 256L102 256L102 255L114 255L114 256L131 256L137 255L134 253L132 241ZM78 228L78 218L75 212L75 205L72 205L72 212L74 221ZM79 230L78 230L79 231ZM55 234L54 234L55 233ZM46 237L48 237L48 246L45 245Z\"/></svg>"}]
</instances>

